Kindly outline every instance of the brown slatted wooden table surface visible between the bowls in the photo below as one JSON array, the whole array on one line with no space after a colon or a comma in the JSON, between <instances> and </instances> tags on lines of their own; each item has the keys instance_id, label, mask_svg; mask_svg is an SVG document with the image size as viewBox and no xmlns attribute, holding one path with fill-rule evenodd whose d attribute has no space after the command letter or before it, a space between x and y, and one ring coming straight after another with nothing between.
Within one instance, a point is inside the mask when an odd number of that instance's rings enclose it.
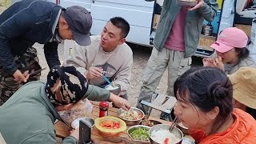
<instances>
[{"instance_id":1,"label":"brown slatted wooden table surface visible between the bowls","mask_svg":"<svg viewBox=\"0 0 256 144\"><path fill-rule=\"evenodd\" d=\"M110 116L117 116L117 110L116 108L114 107L110 107L109 108L109 115ZM94 109L93 109L93 114L92 114L92 118L98 118L98 114L99 114L99 108L97 105L94 105ZM150 120L156 120L158 122L162 122L163 124L170 124L171 125L171 122L167 122L167 121L164 121L162 119L159 119L159 118L152 118L150 117L149 118ZM129 128L130 126L127 126L127 129ZM66 126L66 124L64 124L63 122L56 122L55 123L55 130L56 130L56 136L59 137L59 138L66 138L67 136L70 135L70 128L68 126ZM190 136L186 136L188 138L190 138ZM100 133L99 130L97 130L97 128L93 128L92 131L91 131L91 138L94 138L96 140L98 140L98 142L100 143L134 143L131 141L130 137L128 136L127 134L127 131L123 131L121 134L119 134L119 138L116 138L116 137L106 137L106 136L102 136L102 134ZM121 138L121 139L120 139ZM106 139L108 141L106 141ZM110 142L111 141L111 142Z\"/></svg>"}]
</instances>

